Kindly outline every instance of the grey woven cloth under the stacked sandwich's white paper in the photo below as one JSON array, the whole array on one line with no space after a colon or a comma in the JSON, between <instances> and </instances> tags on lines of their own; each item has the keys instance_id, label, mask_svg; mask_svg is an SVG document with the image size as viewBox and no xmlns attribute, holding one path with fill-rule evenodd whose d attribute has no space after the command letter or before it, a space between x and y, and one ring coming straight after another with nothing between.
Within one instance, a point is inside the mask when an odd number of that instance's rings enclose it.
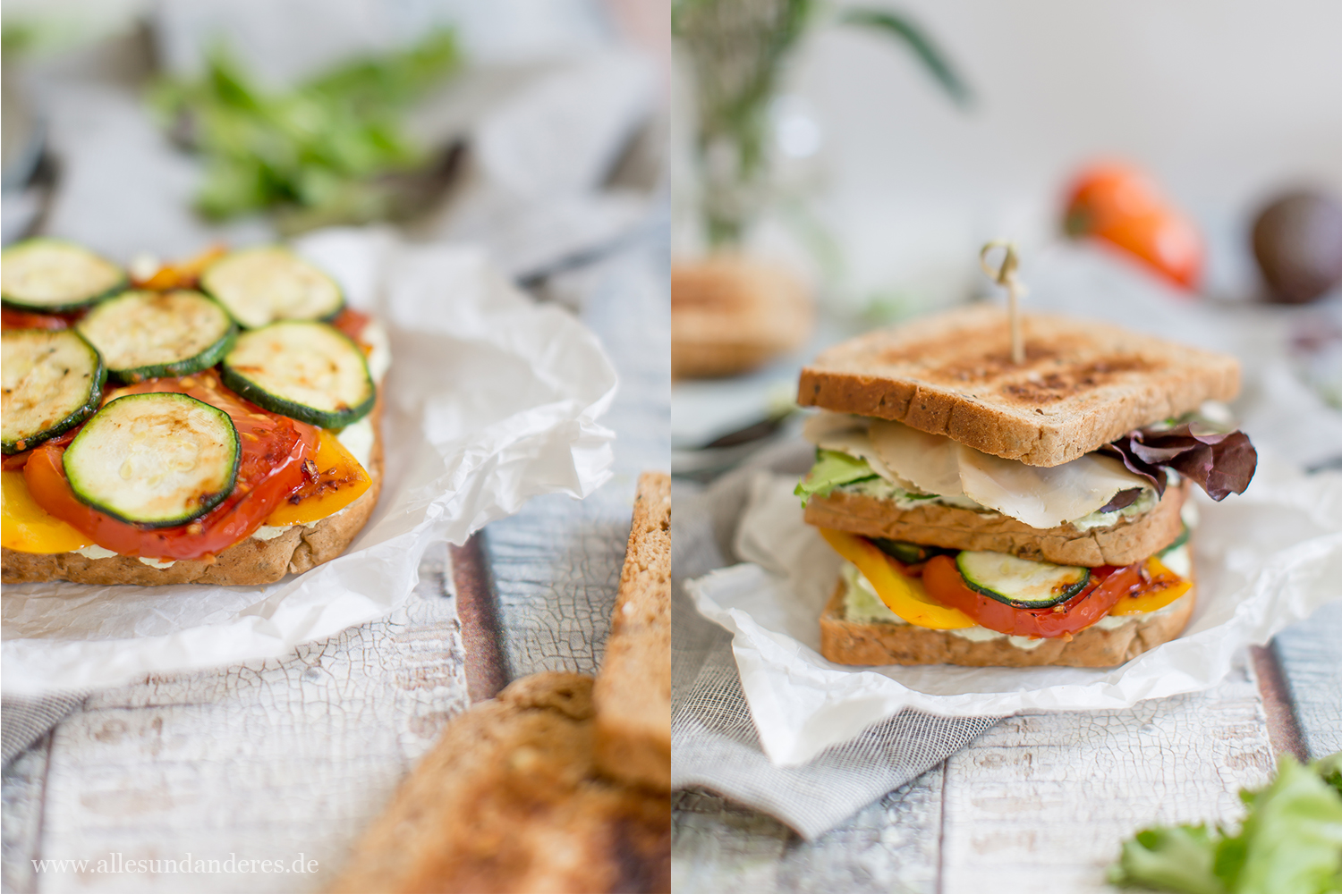
<instances>
[{"instance_id":1,"label":"grey woven cloth under the stacked sandwich's white paper","mask_svg":"<svg viewBox=\"0 0 1342 894\"><path fill-rule=\"evenodd\" d=\"M738 560L730 544L754 469L800 474L812 458L809 445L785 444L710 488L676 483L671 523L671 784L715 791L808 839L935 767L997 722L903 710L800 767L776 767L765 756L741 689L731 635L695 610L683 584Z\"/></svg>"}]
</instances>

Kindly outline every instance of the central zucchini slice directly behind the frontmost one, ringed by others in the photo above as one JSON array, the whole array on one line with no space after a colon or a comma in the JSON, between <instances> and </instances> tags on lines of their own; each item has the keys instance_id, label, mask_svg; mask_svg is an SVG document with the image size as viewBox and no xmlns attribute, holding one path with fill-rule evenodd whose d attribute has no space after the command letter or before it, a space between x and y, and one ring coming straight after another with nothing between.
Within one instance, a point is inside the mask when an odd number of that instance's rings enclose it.
<instances>
[{"instance_id":1,"label":"central zucchini slice directly behind the frontmost one, ringed by others","mask_svg":"<svg viewBox=\"0 0 1342 894\"><path fill-rule=\"evenodd\" d=\"M238 332L219 302L187 290L122 292L89 311L75 328L118 382L209 369L224 359Z\"/></svg>"}]
</instances>

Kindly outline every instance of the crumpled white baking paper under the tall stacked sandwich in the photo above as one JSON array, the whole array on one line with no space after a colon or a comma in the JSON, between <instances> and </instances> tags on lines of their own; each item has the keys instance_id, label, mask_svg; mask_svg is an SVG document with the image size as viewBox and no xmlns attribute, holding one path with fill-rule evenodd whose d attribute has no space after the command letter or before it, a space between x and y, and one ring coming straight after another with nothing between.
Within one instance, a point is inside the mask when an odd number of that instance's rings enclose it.
<instances>
[{"instance_id":1,"label":"crumpled white baking paper under the tall stacked sandwich","mask_svg":"<svg viewBox=\"0 0 1342 894\"><path fill-rule=\"evenodd\" d=\"M805 763L903 708L938 714L1126 708L1208 689L1245 645L1342 596L1342 474L1306 476L1260 456L1249 489L1194 491L1197 609L1184 635L1115 669L849 667L820 653L817 618L840 558L804 524L794 477L752 481L735 550L749 562L686 583L731 649L769 759Z\"/></svg>"}]
</instances>

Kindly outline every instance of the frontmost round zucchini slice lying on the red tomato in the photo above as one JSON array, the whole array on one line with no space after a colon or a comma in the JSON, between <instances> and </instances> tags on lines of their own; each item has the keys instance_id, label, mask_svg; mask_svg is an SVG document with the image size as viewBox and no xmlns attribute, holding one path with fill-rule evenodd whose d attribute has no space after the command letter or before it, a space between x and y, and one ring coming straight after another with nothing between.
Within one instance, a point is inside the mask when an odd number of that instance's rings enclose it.
<instances>
[{"instance_id":1,"label":"frontmost round zucchini slice lying on the red tomato","mask_svg":"<svg viewBox=\"0 0 1342 894\"><path fill-rule=\"evenodd\" d=\"M185 524L238 483L242 448L223 410L188 394L118 397L66 448L62 462L81 501L150 528Z\"/></svg>"}]
</instances>

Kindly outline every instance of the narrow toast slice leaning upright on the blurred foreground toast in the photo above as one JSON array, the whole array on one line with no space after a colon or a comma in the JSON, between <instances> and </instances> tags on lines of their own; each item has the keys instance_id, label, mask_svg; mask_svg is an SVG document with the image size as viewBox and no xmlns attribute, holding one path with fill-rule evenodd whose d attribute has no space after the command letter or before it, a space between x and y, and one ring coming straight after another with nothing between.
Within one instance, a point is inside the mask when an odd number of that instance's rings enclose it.
<instances>
[{"instance_id":1,"label":"narrow toast slice leaning upright on the blurred foreground toast","mask_svg":"<svg viewBox=\"0 0 1342 894\"><path fill-rule=\"evenodd\" d=\"M644 472L611 638L592 693L607 776L671 788L671 476Z\"/></svg>"}]
</instances>

